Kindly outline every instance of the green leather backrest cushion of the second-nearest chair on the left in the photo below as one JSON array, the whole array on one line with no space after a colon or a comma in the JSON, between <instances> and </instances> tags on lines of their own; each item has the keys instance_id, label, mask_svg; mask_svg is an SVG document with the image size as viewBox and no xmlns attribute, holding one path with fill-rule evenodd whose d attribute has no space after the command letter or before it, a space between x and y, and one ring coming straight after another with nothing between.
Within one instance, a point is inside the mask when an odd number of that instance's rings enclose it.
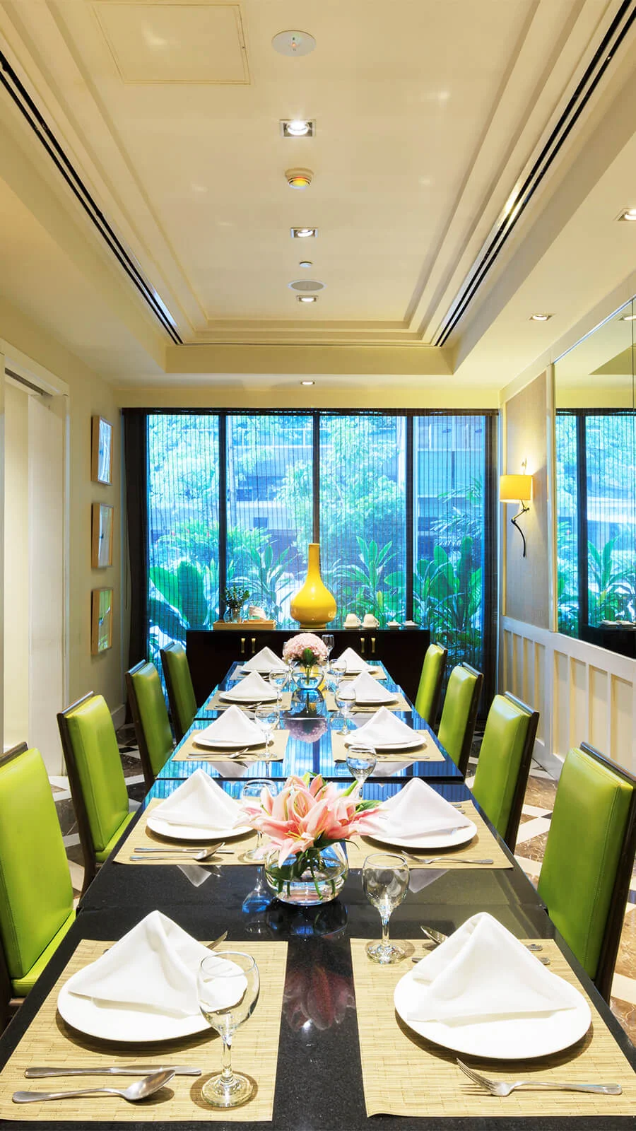
<instances>
[{"instance_id":1,"label":"green leather backrest cushion of the second-nearest chair on the left","mask_svg":"<svg viewBox=\"0 0 636 1131\"><path fill-rule=\"evenodd\" d=\"M65 717L91 839L95 852L102 852L128 814L113 720L103 696L81 700Z\"/></svg>"}]
</instances>

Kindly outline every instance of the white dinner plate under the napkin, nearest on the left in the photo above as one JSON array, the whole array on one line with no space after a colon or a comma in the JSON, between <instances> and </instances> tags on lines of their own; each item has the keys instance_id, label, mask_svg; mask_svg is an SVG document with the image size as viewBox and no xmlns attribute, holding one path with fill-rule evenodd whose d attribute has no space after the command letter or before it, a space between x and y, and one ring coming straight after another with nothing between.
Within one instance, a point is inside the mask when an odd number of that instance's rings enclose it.
<instances>
[{"instance_id":1,"label":"white dinner plate under the napkin, nearest on the left","mask_svg":"<svg viewBox=\"0 0 636 1131\"><path fill-rule=\"evenodd\" d=\"M120 1041L124 1044L141 1042L177 1041L209 1028L201 1013L198 1017L170 1017L151 1010L120 1009L115 1005L100 1005L91 998L74 994L72 984L78 970L60 990L58 1009L74 1029L97 1037L100 1041Z\"/></svg>"}]
</instances>

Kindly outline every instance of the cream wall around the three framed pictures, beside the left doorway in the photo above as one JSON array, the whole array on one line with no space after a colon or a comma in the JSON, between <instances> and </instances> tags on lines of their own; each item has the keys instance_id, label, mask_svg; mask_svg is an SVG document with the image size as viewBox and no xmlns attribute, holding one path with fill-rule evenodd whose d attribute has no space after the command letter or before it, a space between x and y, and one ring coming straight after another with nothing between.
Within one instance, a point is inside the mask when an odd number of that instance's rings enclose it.
<instances>
[{"instance_id":1,"label":"cream wall around the three framed pictures, beside the left doorway","mask_svg":"<svg viewBox=\"0 0 636 1131\"><path fill-rule=\"evenodd\" d=\"M52 378L68 386L69 395L69 619L68 700L87 691L104 696L111 711L124 701L121 648L121 424L114 392L53 337L5 299L0 299L0 348L10 368L11 354L20 352ZM113 483L91 482L91 416L105 416L113 424ZM114 507L113 566L91 568L91 504ZM91 590L114 589L113 646L102 656L91 656ZM63 706L63 705L60 705Z\"/></svg>"}]
</instances>

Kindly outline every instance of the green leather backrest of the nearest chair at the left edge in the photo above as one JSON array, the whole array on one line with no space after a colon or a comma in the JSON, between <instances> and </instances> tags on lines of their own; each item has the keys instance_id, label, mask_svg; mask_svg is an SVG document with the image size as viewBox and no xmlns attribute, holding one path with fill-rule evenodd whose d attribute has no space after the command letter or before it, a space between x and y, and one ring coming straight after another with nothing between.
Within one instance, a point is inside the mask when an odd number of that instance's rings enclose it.
<instances>
[{"instance_id":1,"label":"green leather backrest of the nearest chair at the left edge","mask_svg":"<svg viewBox=\"0 0 636 1131\"><path fill-rule=\"evenodd\" d=\"M0 936L22 978L72 912L72 887L42 756L16 751L0 757Z\"/></svg>"}]
</instances>

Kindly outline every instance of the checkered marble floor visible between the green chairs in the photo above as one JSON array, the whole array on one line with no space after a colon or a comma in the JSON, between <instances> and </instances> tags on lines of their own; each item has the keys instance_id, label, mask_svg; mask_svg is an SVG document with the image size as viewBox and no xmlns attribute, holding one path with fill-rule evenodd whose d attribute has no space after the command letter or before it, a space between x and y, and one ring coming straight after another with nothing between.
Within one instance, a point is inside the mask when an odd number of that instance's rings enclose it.
<instances>
[{"instance_id":1,"label":"checkered marble floor visible between the green chairs","mask_svg":"<svg viewBox=\"0 0 636 1131\"><path fill-rule=\"evenodd\" d=\"M145 795L144 777L139 761L139 751L135 741L134 727L123 726L118 732L119 749L130 806L137 808ZM479 736L475 742L475 753L479 751ZM476 758L469 760L467 783L476 768ZM76 898L79 898L84 869L77 822L72 803L63 779L52 783L58 815L62 828L71 880ZM532 763L519 832L517 837L516 860L530 880L536 884L541 872L541 861L545 849L545 840L552 818L557 782L538 762ZM631 890L625 910L625 924L620 939L616 973L612 985L611 1008L629 1038L636 1044L636 867Z\"/></svg>"}]
</instances>

